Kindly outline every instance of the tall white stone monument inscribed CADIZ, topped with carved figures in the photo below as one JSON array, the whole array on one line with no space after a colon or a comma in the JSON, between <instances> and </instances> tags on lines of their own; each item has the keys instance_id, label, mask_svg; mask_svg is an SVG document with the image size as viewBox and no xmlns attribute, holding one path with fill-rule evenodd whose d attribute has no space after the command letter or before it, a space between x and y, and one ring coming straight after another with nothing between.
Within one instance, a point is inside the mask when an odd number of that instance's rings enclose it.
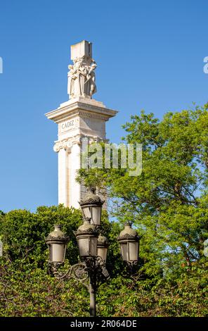
<instances>
[{"instance_id":1,"label":"tall white stone monument inscribed CADIZ, topped with carved figures","mask_svg":"<svg viewBox=\"0 0 208 331\"><path fill-rule=\"evenodd\" d=\"M58 204L79 208L86 188L76 181L82 166L82 139L92 142L106 141L105 122L117 114L103 102L92 99L96 93L96 61L92 57L92 43L86 40L71 46L67 92L69 100L46 113L58 124L58 140L54 151L58 153Z\"/></svg>"}]
</instances>

